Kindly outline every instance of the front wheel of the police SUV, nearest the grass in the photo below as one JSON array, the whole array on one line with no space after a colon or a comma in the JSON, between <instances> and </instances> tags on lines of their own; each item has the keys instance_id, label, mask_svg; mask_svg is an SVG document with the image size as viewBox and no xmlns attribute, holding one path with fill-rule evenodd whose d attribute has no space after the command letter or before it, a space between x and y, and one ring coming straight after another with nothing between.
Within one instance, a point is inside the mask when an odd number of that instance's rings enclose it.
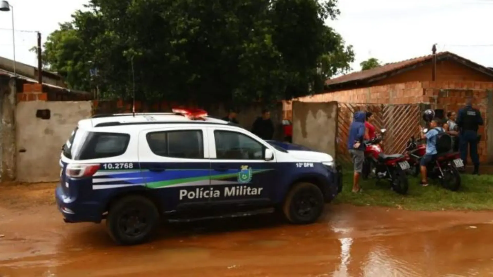
<instances>
[{"instance_id":1,"label":"front wheel of the police SUV, nearest the grass","mask_svg":"<svg viewBox=\"0 0 493 277\"><path fill-rule=\"evenodd\" d=\"M320 217L324 204L322 191L315 184L300 182L289 190L282 211L292 224L310 224Z\"/></svg>"}]
</instances>

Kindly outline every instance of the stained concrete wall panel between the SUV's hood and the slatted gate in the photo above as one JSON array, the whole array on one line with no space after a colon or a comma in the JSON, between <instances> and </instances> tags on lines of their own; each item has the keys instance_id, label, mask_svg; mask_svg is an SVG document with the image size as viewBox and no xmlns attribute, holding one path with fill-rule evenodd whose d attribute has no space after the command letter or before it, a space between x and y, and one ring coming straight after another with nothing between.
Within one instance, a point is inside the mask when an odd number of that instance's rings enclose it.
<instances>
[{"instance_id":1,"label":"stained concrete wall panel between the SUV's hood and the slatted gate","mask_svg":"<svg viewBox=\"0 0 493 277\"><path fill-rule=\"evenodd\" d=\"M293 142L336 158L337 102L293 102Z\"/></svg>"}]
</instances>

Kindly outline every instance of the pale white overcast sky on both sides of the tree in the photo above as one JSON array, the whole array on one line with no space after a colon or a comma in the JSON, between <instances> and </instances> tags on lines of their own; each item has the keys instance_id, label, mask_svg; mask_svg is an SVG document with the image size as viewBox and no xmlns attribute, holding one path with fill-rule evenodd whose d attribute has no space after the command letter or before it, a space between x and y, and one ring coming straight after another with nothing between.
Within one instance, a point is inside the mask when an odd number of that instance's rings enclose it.
<instances>
[{"instance_id":1,"label":"pale white overcast sky on both sides of the tree","mask_svg":"<svg viewBox=\"0 0 493 277\"><path fill-rule=\"evenodd\" d=\"M17 61L36 65L29 49L70 20L87 0L10 0L14 6ZM491 15L493 0L339 0L341 16L328 22L354 46L356 62L374 57L397 62L438 51L451 51L478 64L493 67ZM12 59L11 13L0 12L0 56ZM478 46L480 45L480 46ZM490 45L490 46L481 46Z\"/></svg>"}]
</instances>

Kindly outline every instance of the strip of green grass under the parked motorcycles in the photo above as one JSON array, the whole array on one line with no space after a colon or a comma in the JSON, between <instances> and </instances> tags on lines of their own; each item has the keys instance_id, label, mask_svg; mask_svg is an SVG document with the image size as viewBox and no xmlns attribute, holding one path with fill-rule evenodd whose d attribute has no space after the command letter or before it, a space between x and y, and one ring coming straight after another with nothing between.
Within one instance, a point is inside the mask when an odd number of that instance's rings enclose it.
<instances>
[{"instance_id":1,"label":"strip of green grass under the parked motorcycles","mask_svg":"<svg viewBox=\"0 0 493 277\"><path fill-rule=\"evenodd\" d=\"M409 177L409 191L403 196L390 190L388 181L361 180L361 193L352 193L352 172L345 171L343 191L336 204L356 206L384 206L409 210L483 210L493 209L493 175L461 175L458 192L442 188L438 181L429 180L427 187L419 185L419 178Z\"/></svg>"}]
</instances>

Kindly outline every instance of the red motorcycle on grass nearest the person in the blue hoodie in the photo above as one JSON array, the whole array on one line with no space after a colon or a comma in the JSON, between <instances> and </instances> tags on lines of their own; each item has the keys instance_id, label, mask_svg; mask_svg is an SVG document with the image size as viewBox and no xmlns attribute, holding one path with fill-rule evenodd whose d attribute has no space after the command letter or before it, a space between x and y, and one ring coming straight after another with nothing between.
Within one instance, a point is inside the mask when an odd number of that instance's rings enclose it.
<instances>
[{"instance_id":1,"label":"red motorcycle on grass nearest the person in the blue hoodie","mask_svg":"<svg viewBox=\"0 0 493 277\"><path fill-rule=\"evenodd\" d=\"M385 129L380 130L382 135ZM399 193L406 194L409 188L406 171L410 169L407 157L402 154L386 155L383 152L380 142L382 136L377 136L369 141L365 141L365 160L363 162L363 179L367 179L370 174L377 178L377 182L386 179L390 182L391 188Z\"/></svg>"}]
</instances>

